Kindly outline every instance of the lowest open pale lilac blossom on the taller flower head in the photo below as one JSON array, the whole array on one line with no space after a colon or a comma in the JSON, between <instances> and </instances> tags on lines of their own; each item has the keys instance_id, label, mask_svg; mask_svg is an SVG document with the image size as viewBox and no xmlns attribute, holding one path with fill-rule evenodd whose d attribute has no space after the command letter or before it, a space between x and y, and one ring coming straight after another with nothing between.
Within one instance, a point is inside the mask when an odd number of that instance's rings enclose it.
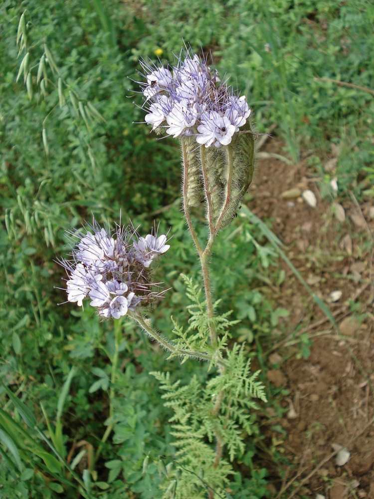
<instances>
[{"instance_id":1,"label":"lowest open pale lilac blossom on the taller flower head","mask_svg":"<svg viewBox=\"0 0 374 499\"><path fill-rule=\"evenodd\" d=\"M198 135L196 142L209 147L214 144L216 147L227 146L235 133L236 127L227 116L221 116L215 111L204 113L201 116L201 125L197 127Z\"/></svg>"}]
</instances>

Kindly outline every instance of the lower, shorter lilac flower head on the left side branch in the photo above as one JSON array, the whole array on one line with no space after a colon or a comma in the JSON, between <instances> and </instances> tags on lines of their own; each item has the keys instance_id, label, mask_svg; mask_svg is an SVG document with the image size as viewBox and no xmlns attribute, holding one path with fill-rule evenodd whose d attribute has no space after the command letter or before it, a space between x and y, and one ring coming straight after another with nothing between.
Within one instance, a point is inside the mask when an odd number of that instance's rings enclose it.
<instances>
[{"instance_id":1,"label":"lower, shorter lilac flower head on the left side branch","mask_svg":"<svg viewBox=\"0 0 374 499\"><path fill-rule=\"evenodd\" d=\"M70 235L76 242L71 257L59 260L67 273L68 301L82 306L89 298L100 316L118 319L163 295L160 283L151 281L149 267L170 248L164 234L158 236L155 229L143 238L121 225L110 232L94 220L85 233Z\"/></svg>"}]
</instances>

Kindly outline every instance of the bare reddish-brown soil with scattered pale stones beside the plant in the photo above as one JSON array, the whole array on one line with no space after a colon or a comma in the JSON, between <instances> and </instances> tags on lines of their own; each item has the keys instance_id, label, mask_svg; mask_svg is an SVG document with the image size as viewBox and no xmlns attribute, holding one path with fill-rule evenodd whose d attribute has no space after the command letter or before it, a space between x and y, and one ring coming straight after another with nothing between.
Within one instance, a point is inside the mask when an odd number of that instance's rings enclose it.
<instances>
[{"instance_id":1,"label":"bare reddish-brown soil with scattered pale stones beside the plant","mask_svg":"<svg viewBox=\"0 0 374 499\"><path fill-rule=\"evenodd\" d=\"M270 139L264 151L283 154L282 144ZM290 316L273 332L267 374L283 414L270 408L263 431L273 453L292 466L275 460L279 481L272 497L374 499L373 201L359 206L339 190L336 200L323 200L321 181L307 158L289 165L269 157L259 161L250 188L251 210L272 222L285 253L339 325L334 328L284 263L285 279L272 298ZM313 191L317 206L308 206L296 191L285 199L291 189ZM338 221L332 201L343 206L344 221ZM333 291L342 292L334 302ZM341 466L338 446L350 453Z\"/></svg>"}]
</instances>

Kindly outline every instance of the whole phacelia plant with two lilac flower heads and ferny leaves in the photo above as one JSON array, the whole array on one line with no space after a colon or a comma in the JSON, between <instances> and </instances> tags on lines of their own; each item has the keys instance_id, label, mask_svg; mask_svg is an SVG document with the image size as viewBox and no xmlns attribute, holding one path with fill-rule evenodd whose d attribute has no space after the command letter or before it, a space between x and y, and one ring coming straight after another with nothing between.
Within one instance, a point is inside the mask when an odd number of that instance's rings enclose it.
<instances>
[{"instance_id":1,"label":"whole phacelia plant with two lilac flower heads and ferny leaves","mask_svg":"<svg viewBox=\"0 0 374 499\"><path fill-rule=\"evenodd\" d=\"M215 370L207 383L193 376L184 386L179 380L172 382L170 373L151 374L165 392L165 406L174 412L170 421L177 450L167 466L164 458L159 459L165 479L162 497L226 497L225 486L233 473L229 461L244 452L243 437L252 431L252 411L257 407L253 399L266 400L244 347L227 346L230 329L238 321L229 318L230 311L217 313L220 300L213 301L208 267L218 232L234 217L252 180L251 111L246 98L221 82L206 59L188 51L174 67L144 61L142 67L146 123L158 135L165 131L181 141L183 206L201 264L203 296L201 286L183 276L191 300L189 326L184 329L173 319L172 340L153 328L145 316L147 306L165 291L152 280L152 264L170 247L167 236L157 231L143 238L134 229L119 225L111 232L94 221L87 232L73 234L76 246L60 263L67 272L68 301L81 306L88 298L103 318L135 319L170 352L169 358L205 360ZM205 245L197 237L193 217L203 204ZM103 442L110 431L111 426ZM148 458L144 472L147 466Z\"/></svg>"}]
</instances>

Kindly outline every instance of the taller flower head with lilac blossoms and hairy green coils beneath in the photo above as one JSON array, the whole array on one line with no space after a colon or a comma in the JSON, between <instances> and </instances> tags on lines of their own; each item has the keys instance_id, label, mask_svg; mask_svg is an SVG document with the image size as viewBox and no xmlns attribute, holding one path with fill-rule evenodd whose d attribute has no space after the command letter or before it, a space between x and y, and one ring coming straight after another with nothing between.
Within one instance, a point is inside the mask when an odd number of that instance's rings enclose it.
<instances>
[{"instance_id":1,"label":"taller flower head with lilac blossoms and hairy green coils beneath","mask_svg":"<svg viewBox=\"0 0 374 499\"><path fill-rule=\"evenodd\" d=\"M183 199L188 210L205 201L206 221L216 235L235 217L253 177L254 136L251 110L244 95L236 95L206 59L179 57L174 67L142 62L146 123L181 141ZM138 251L148 248L139 242ZM99 250L99 249L98 249ZM144 265L152 262L145 256Z\"/></svg>"}]
</instances>

